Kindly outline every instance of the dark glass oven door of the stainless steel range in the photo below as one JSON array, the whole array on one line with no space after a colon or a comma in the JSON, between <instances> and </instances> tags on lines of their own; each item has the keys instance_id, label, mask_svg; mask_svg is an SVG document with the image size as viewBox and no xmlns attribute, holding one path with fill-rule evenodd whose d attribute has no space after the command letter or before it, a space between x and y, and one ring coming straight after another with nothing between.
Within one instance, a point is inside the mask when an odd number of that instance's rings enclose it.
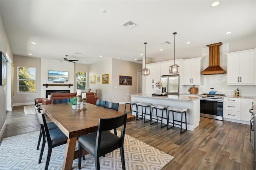
<instances>
[{"instance_id":1,"label":"dark glass oven door of the stainless steel range","mask_svg":"<svg viewBox=\"0 0 256 170\"><path fill-rule=\"evenodd\" d=\"M223 121L223 100L200 99L200 116Z\"/></svg>"}]
</instances>

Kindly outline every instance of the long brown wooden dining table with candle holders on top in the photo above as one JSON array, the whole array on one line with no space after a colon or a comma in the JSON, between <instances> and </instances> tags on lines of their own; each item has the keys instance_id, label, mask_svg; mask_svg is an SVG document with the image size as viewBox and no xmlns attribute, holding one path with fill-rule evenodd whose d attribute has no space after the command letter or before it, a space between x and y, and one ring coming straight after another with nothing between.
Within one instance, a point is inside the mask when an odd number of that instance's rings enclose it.
<instances>
[{"instance_id":1,"label":"long brown wooden dining table with candle holders on top","mask_svg":"<svg viewBox=\"0 0 256 170\"><path fill-rule=\"evenodd\" d=\"M96 132L100 118L111 118L124 113L105 107L86 103L86 110L75 111L68 103L41 105L42 111L68 137L62 170L71 170L73 160L78 158L77 138L81 135ZM134 121L133 115L127 114L127 122ZM88 152L83 150L82 155Z\"/></svg>"}]
</instances>

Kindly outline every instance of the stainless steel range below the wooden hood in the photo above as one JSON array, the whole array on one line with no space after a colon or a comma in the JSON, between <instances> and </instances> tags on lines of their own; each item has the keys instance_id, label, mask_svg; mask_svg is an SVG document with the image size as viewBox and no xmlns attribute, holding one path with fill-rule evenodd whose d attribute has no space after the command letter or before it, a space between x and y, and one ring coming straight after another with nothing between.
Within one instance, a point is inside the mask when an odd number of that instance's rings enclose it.
<instances>
[{"instance_id":1,"label":"stainless steel range below the wooden hood","mask_svg":"<svg viewBox=\"0 0 256 170\"><path fill-rule=\"evenodd\" d=\"M223 121L222 94L200 94L200 116Z\"/></svg>"}]
</instances>

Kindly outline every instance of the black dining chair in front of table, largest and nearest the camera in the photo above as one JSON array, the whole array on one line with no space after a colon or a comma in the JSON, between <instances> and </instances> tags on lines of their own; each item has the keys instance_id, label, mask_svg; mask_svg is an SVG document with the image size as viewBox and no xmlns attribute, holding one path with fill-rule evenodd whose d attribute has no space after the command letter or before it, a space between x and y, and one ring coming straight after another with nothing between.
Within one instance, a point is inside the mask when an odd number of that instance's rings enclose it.
<instances>
[{"instance_id":1,"label":"black dining chair in front of table, largest and nearest the camera","mask_svg":"<svg viewBox=\"0 0 256 170\"><path fill-rule=\"evenodd\" d=\"M78 169L81 169L82 149L85 149L94 157L95 168L100 170L100 157L120 148L122 168L124 163L124 134L126 127L127 113L124 115L99 119L97 132L92 132L78 137ZM122 126L120 137L109 130Z\"/></svg>"}]
</instances>

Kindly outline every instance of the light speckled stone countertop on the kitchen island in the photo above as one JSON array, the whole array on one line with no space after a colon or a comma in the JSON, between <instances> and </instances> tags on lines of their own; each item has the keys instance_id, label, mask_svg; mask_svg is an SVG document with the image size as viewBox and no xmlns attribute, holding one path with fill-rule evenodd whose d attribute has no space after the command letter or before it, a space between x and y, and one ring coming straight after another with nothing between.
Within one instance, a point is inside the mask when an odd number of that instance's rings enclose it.
<instances>
[{"instance_id":1,"label":"light speckled stone countertop on the kitchen island","mask_svg":"<svg viewBox=\"0 0 256 170\"><path fill-rule=\"evenodd\" d=\"M150 97L150 98L156 98L156 99L169 99L169 100L178 100L178 101L194 101L200 99L198 96L176 96L176 95L167 95L167 96L153 96L152 94L146 94L146 93L135 93L135 94L128 94L130 96L138 96L138 97Z\"/></svg>"}]
</instances>

